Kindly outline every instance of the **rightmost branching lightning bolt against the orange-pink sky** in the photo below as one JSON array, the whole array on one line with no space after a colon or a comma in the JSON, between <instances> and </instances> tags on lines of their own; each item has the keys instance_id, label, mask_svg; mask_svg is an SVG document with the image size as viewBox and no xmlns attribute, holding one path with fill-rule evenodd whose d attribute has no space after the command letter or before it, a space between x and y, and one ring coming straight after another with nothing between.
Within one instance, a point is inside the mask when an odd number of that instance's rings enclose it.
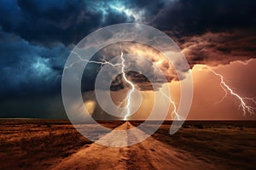
<instances>
[{"instance_id":1,"label":"rightmost branching lightning bolt against the orange-pink sky","mask_svg":"<svg viewBox=\"0 0 256 170\"><path fill-rule=\"evenodd\" d=\"M240 62L243 65L247 65L250 62L250 60L248 60L247 62ZM216 71L213 71L211 67L209 66L204 66L204 68L207 68L207 70L211 71L215 76L218 76L220 78L220 87L224 90L224 97L222 99L220 99L218 102L216 102L215 104L218 104L222 101L224 101L224 99L228 96L228 94L234 96L236 99L239 100L240 105L238 106L238 109L241 109L243 112L243 115L246 116L247 113L249 113L250 115L254 114L254 110L256 110L256 107L253 107L251 105L247 105L246 101L251 101L253 102L253 104L256 104L256 97L253 98L247 98L247 97L241 97L239 94L237 94L236 92L234 92L232 90L232 88L230 88L230 86L224 82L224 76L222 76L221 74L219 74Z\"/></svg>"}]
</instances>

